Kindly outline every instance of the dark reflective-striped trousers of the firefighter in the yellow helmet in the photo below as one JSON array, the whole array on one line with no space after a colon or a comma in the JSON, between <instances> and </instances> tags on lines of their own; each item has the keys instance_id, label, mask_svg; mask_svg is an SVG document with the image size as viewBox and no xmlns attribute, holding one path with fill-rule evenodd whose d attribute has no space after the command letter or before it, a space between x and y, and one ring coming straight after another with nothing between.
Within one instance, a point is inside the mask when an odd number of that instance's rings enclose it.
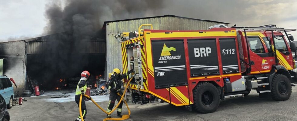
<instances>
[{"instance_id":1,"label":"dark reflective-striped trousers of the firefighter in the yellow helmet","mask_svg":"<svg viewBox=\"0 0 297 121\"><path fill-rule=\"evenodd\" d=\"M115 106L115 100L118 100L118 102L121 100L122 92L118 92L118 93L110 92L109 103L106 110L107 113L112 111L113 106ZM122 113L122 106L123 106L123 101L118 105L118 109L117 109L118 114Z\"/></svg>"}]
</instances>

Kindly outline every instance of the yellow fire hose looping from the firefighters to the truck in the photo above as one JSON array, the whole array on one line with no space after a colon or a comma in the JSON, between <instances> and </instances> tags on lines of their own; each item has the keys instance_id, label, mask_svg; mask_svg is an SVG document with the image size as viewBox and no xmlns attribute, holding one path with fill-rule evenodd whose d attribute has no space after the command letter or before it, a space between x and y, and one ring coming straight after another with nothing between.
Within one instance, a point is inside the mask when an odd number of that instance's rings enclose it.
<instances>
[{"instance_id":1,"label":"yellow fire hose looping from the firefighters to the truck","mask_svg":"<svg viewBox=\"0 0 297 121\"><path fill-rule=\"evenodd\" d=\"M115 109L118 108L118 106L119 106L120 103L122 102L122 100L123 100L123 98L124 98L124 96L125 96L125 92L127 91L128 85L130 84L130 82L131 82L132 79L133 79L133 77L128 81L127 86L126 86L126 88L125 88L125 90L124 90L124 92L123 92L123 95L122 95L122 97L121 97L121 100L118 102L118 104L115 106L115 108L113 108L112 111L109 112L109 113L107 113L101 106L99 106L98 103L96 103L96 102L92 99L92 97L90 97L90 96L88 96L88 95L84 95L84 96L85 96L87 99L92 100L92 102L93 102L93 103L94 103L100 110L102 110L104 113L110 115L112 112L115 111ZM118 95L121 96L119 93L118 93ZM123 102L124 102L124 103L126 104L126 106L127 106L127 109L128 109L128 115L123 115L122 118L105 118L105 119L103 119L103 121L107 121L107 120L117 120L117 121L119 121L119 120L125 120L125 119L128 119L128 118L130 117L131 111L130 111L130 109L129 109L129 107L128 107L127 102L126 102L125 100L123 100ZM79 99L79 115L80 115L80 117L82 118L82 121L84 121L84 118L82 117L82 94L80 95L80 99Z\"/></svg>"}]
</instances>

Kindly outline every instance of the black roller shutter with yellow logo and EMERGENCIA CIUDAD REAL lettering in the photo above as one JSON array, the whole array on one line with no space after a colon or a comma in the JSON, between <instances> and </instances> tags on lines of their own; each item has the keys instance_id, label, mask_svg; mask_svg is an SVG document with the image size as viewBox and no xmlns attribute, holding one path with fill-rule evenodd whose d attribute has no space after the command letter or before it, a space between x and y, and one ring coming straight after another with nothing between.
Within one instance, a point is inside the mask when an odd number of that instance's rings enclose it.
<instances>
[{"instance_id":1,"label":"black roller shutter with yellow logo and EMERGENCIA CIUDAD REAL lettering","mask_svg":"<svg viewBox=\"0 0 297 121\"><path fill-rule=\"evenodd\" d=\"M152 41L155 88L187 85L183 40Z\"/></svg>"}]
</instances>

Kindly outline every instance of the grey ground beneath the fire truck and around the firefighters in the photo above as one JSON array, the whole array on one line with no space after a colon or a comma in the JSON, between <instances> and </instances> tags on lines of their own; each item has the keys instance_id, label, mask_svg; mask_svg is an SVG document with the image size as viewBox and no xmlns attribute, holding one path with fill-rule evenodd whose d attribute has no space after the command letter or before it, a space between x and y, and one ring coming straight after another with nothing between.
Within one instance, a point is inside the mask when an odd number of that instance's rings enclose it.
<instances>
[{"instance_id":1,"label":"grey ground beneath the fire truck and around the firefighters","mask_svg":"<svg viewBox=\"0 0 297 121\"><path fill-rule=\"evenodd\" d=\"M97 97L98 98L98 97ZM74 121L78 116L78 107L74 101L47 102L38 97L26 98L22 106L9 109L11 121ZM62 99L61 99L62 100ZM74 100L74 99L73 99ZM200 114L187 111L168 103L148 103L146 105L129 102L131 117L128 121L296 121L297 87L292 87L291 98L287 101L261 99L252 90L249 96L223 100L214 113ZM106 114L91 101L87 101L87 121L100 121ZM108 102L99 102L106 108ZM123 108L123 114L127 114ZM113 113L112 117L116 114Z\"/></svg>"}]
</instances>

